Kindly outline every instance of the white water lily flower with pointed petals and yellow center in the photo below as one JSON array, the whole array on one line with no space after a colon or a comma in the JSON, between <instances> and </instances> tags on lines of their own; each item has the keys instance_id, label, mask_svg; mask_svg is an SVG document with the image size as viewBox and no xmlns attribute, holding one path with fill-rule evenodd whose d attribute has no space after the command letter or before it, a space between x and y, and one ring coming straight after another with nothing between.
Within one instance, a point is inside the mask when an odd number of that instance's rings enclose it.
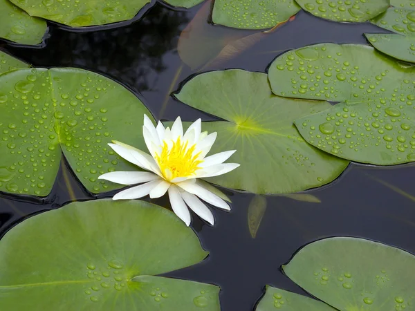
<instances>
[{"instance_id":1,"label":"white water lily flower with pointed petals and yellow center","mask_svg":"<svg viewBox=\"0 0 415 311\"><path fill-rule=\"evenodd\" d=\"M230 210L222 198L213 194L197 178L219 176L237 167L236 163L223 163L236 151L225 151L206 157L217 133L201 133L201 119L196 120L185 133L181 118L178 117L172 129L158 122L157 127L144 115L142 133L149 153L140 151L127 144L113 141L109 146L125 160L136 164L146 171L114 171L99 178L122 185L138 185L121 191L113 200L142 198L160 198L169 194L172 209L188 226L190 225L190 207L199 217L214 224L212 211L201 201ZM219 191L219 190L218 190Z\"/></svg>"}]
</instances>

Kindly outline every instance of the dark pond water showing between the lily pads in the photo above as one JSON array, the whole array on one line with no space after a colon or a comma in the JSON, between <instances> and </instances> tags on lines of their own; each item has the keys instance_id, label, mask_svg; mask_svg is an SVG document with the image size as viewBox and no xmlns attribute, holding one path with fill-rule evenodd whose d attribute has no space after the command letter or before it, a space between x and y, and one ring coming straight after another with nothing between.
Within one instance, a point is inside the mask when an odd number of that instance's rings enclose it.
<instances>
[{"instance_id":1,"label":"dark pond water showing between the lily pads","mask_svg":"<svg viewBox=\"0 0 415 311\"><path fill-rule=\"evenodd\" d=\"M2 43L0 47L36 67L74 66L112 77L136 93L158 120L174 120L178 115L183 120L198 117L215 120L169 97L183 80L196 73L181 62L177 43L181 31L200 8L173 10L156 3L142 19L117 28L71 32L50 24L51 36L43 48ZM207 45L212 50L215 40L232 37L235 33L253 33L211 26L208 22L204 27L214 28L214 33L218 34L206 39L212 42ZM367 44L362 36L364 32L387 31L370 23L334 23L299 12L294 21L270 33L254 47L208 69L243 68L264 72L268 64L286 50L323 42ZM196 51L195 47L194 53ZM414 253L414 173L412 164L394 168L350 164L335 182L307 191L321 203L270 196L256 238L251 237L248 229L248 205L253 195L228 192L232 197L232 211L216 209L214 227L194 217L192 227L210 256L198 265L167 275L219 285L222 310L248 311L254 310L266 284L305 294L284 276L280 267L297 249L318 239L356 236ZM94 198L62 162L55 187L44 200L18 200L1 195L0 232L4 234L24 218L41 211L62 207L73 200ZM168 205L167 200L156 202Z\"/></svg>"}]
</instances>

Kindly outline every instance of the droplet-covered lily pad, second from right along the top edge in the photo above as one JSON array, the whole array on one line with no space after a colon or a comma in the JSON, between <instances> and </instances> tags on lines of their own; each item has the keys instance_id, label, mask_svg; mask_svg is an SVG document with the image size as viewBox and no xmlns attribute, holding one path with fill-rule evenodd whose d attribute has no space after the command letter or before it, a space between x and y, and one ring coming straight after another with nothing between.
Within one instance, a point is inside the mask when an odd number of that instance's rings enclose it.
<instances>
[{"instance_id":1,"label":"droplet-covered lily pad, second from right along the top edge","mask_svg":"<svg viewBox=\"0 0 415 311\"><path fill-rule=\"evenodd\" d=\"M332 1L296 0L303 10L331 21L362 22L376 17L389 7L389 0Z\"/></svg>"}]
</instances>

